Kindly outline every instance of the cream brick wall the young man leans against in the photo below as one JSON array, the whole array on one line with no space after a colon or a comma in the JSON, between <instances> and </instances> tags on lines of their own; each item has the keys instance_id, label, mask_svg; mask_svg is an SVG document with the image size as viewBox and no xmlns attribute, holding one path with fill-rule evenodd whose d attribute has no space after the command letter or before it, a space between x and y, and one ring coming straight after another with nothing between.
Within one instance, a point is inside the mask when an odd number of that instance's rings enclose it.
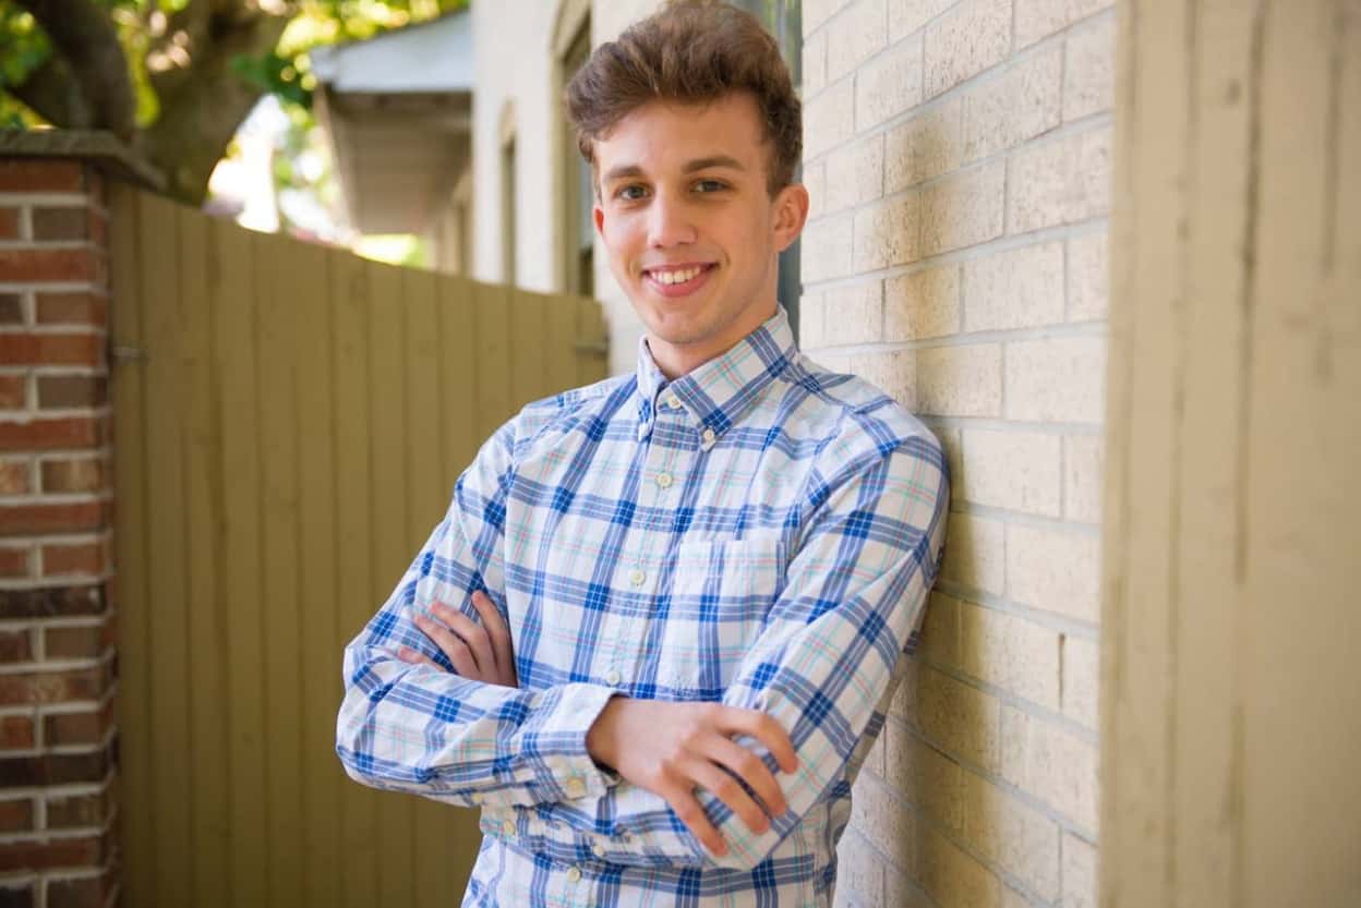
<instances>
[{"instance_id":1,"label":"cream brick wall the young man leans against","mask_svg":"<svg viewBox=\"0 0 1361 908\"><path fill-rule=\"evenodd\" d=\"M1113 0L821 0L804 29L804 348L954 475L837 904L1094 905Z\"/></svg>"}]
</instances>

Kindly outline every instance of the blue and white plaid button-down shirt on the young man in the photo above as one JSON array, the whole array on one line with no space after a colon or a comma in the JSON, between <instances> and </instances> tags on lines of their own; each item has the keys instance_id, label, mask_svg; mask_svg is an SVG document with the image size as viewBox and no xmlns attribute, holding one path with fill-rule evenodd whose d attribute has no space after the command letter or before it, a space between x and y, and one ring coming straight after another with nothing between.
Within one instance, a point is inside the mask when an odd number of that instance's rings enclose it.
<instances>
[{"instance_id":1,"label":"blue and white plaid button-down shirt on the young man","mask_svg":"<svg viewBox=\"0 0 1361 908\"><path fill-rule=\"evenodd\" d=\"M346 647L336 751L363 784L482 809L465 907L829 905L947 497L930 430L799 354L783 310L671 383L640 344L637 374L529 404L478 453ZM508 621L519 689L452 674L411 621L433 600L475 617L474 589ZM789 811L757 834L700 791L715 858L587 753L617 693L770 713L799 754L776 775Z\"/></svg>"}]
</instances>

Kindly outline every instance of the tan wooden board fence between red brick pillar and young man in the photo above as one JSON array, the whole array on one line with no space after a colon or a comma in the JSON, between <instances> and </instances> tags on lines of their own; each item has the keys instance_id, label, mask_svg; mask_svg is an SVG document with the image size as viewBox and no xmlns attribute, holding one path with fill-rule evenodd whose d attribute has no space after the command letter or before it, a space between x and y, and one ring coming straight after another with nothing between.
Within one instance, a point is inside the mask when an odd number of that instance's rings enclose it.
<instances>
[{"instance_id":1,"label":"tan wooden board fence between red brick pillar and young man","mask_svg":"<svg viewBox=\"0 0 1361 908\"><path fill-rule=\"evenodd\" d=\"M346 776L342 649L597 306L110 207L122 901L448 905L476 814Z\"/></svg>"}]
</instances>

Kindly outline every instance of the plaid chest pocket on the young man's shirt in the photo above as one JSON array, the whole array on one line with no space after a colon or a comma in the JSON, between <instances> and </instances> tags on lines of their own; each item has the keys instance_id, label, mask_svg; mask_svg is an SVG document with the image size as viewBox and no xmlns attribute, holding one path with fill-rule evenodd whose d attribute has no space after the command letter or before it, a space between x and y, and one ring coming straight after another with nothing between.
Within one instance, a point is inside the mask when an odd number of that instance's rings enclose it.
<instances>
[{"instance_id":1,"label":"plaid chest pocket on the young man's shirt","mask_svg":"<svg viewBox=\"0 0 1361 908\"><path fill-rule=\"evenodd\" d=\"M667 613L651 634L661 697L723 698L780 595L784 569L780 539L678 546Z\"/></svg>"}]
</instances>

